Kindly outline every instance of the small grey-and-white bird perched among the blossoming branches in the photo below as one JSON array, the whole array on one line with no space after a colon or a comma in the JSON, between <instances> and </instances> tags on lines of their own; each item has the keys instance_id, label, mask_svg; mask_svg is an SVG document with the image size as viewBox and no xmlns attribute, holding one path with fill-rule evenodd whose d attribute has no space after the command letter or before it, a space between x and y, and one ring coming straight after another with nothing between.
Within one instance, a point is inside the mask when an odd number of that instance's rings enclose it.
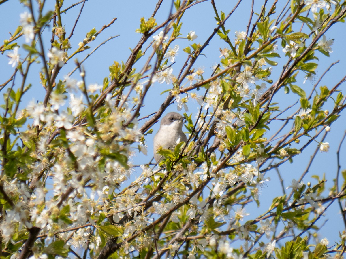
<instances>
[{"instance_id":1,"label":"small grey-and-white bird perched among the blossoming branches","mask_svg":"<svg viewBox=\"0 0 346 259\"><path fill-rule=\"evenodd\" d=\"M182 131L183 119L184 117L176 112L167 113L161 119L160 129L154 136L154 158L156 162L160 162L162 159L162 155L156 153L160 147L163 149L174 149L179 138L179 142L188 141Z\"/></svg>"}]
</instances>

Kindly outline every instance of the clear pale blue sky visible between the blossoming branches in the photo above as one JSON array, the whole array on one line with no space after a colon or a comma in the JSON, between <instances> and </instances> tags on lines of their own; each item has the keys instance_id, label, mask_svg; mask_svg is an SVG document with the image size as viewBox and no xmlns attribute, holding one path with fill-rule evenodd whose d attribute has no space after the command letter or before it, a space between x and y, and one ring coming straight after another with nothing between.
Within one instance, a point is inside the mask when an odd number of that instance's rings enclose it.
<instances>
[{"instance_id":1,"label":"clear pale blue sky visible between the blossoming branches","mask_svg":"<svg viewBox=\"0 0 346 259\"><path fill-rule=\"evenodd\" d=\"M216 6L219 12L222 10L226 14L233 9L236 1L227 1L227 0L219 0L215 1ZM263 1L255 1L255 12L260 11L261 3ZM271 1L270 1L271 2ZM283 2L283 1L282 1ZM54 8L53 1L47 1L46 10ZM64 6L68 7L72 4L73 1L65 1ZM237 11L226 23L226 28L230 29L230 38L234 37L235 31L245 31L246 25L249 19L250 13L250 3L251 1L242 1L239 5ZM130 55L129 48L134 48L140 39L140 34L136 33L135 30L139 28L139 19L140 17L145 17L146 19L151 15L155 8L156 1L148 0L131 0L131 1L115 1L115 0L89 0L86 1L84 10L82 12L79 23L76 26L74 31L74 35L72 37L72 49L78 46L78 43L85 38L85 35L92 28L96 28L99 30L103 25L108 24L114 17L117 17L117 21L103 33L97 37L97 40L90 44L91 49L84 51L83 53L76 56L79 60L82 60L85 55L87 55L93 48L98 46L103 40L106 40L110 36L119 35L119 37L112 39L107 42L106 45L101 46L86 62L84 63L84 68L86 71L86 83L93 84L98 83L102 84L103 78L109 75L108 67L113 64L113 61L124 61L126 62L128 56ZM157 19L157 23L160 24L163 22L168 15L170 9L170 1L164 1L162 4L162 8L159 10L155 18ZM8 32L13 32L19 25L19 14L24 12L26 8L19 3L19 1L8 1L0 6L0 37L1 40L9 38ZM77 6L72 8L67 12L66 15L62 15L63 23L65 24L65 29L67 33L70 33L73 23L78 16L80 7ZM211 7L210 1L206 1L204 3L198 4L195 8L191 10L187 10L185 17L182 19L183 27L182 27L182 37L186 37L187 33L191 30L194 30L198 35L198 38L194 41L196 43L203 42L209 37L212 33L213 29L216 27L216 21L214 19L214 11ZM326 58L322 54L318 54L319 57L319 67L317 69L317 78L322 75L324 70L333 62L340 59L340 63L336 65L327 76L321 81L320 85L327 85L328 88L332 88L337 81L339 81L345 74L346 67L346 56L344 51L344 45L346 42L346 33L345 33L345 24L340 23L333 27L326 33L327 39L335 39L333 50L330 58ZM48 52L49 46L49 38L50 38L50 30L51 28L47 28L43 37L45 39L44 47ZM23 43L23 39L18 40L19 44ZM177 74L182 64L184 63L187 54L182 51L183 48L187 47L191 42L188 42L186 39L178 39L175 41L175 44L180 46L179 55L176 59L176 64L173 67L173 73ZM278 42L278 53L283 58L283 61L287 59L282 52L282 48L280 45L280 41ZM173 46L175 45L173 44ZM172 47L173 47L172 46ZM219 48L227 47L224 41L220 40L218 36L215 36L209 46L203 51L205 57L201 56L197 63L195 64L195 68L204 67L206 78L208 75L212 73L212 66L216 65L220 61L220 52ZM25 55L25 51L20 49L20 54L22 57ZM140 68L143 65L143 61L138 62L137 67ZM272 79L275 80L278 73L280 73L283 63L279 63L277 68L274 69ZM280 67L281 66L281 67ZM0 84L6 81L10 75L13 73L14 69L8 65L8 58L6 57L6 52L4 55L0 57ZM63 79L63 76L67 74L70 70L74 68L73 63L65 65L58 78ZM25 105L32 99L42 101L44 97L44 89L39 84L38 72L40 70L40 64L37 64L33 73L28 78L28 82L33 84L28 95L23 99L21 108L24 108ZM74 73L72 78L80 79L78 73ZM17 78L15 81L15 87L19 85L21 78ZM303 75L300 74L297 77L298 85L306 90L307 93L310 93L312 84L307 82L303 84ZM164 84L155 83L153 87L149 90L149 93L145 99L145 107L141 109L141 115L145 116L147 114L155 112L160 106L163 100L166 97L166 94L160 95L160 93L164 92L164 90L170 89L171 86ZM340 89L344 89L341 87ZM4 90L3 90L4 91ZM202 91L201 91L202 92ZM201 94L201 93L200 93ZM290 98L290 99L289 99ZM288 100L298 100L297 95L293 95L292 93L288 95L284 95L283 90L274 98L273 102L279 103L279 106L285 107L285 104ZM0 101L3 103L3 100ZM298 107L290 110L289 114L292 114L296 111ZM176 105L171 105L166 112L176 111ZM193 113L192 117L197 113L197 106L193 104L193 102L189 102L189 112L188 114ZM320 153L318 152L315 162L313 166L310 168L309 173L306 176L306 180L304 182L311 181L312 184L316 183L314 180L310 178L311 175L318 174L322 175L326 173L326 178L328 180L327 186L331 186L333 184L332 179L335 178L336 175L336 149L339 144L340 138L345 131L345 116L342 116L336 123L334 123L331 127L331 132L327 135L326 142L330 143L331 149L329 153ZM143 123L143 122L142 122ZM275 129L275 125L271 126L272 129ZM158 129L158 124L153 127L154 132ZM317 140L319 141L319 140ZM147 137L147 145L148 145L148 154L152 154L152 136L148 135ZM285 179L285 187L290 185L290 181L293 178L298 178L300 174L305 170L308 161L310 159L310 155L315 150L317 143L312 143L312 145L304 150L303 154L297 157L294 157L294 163L289 164L286 163L284 166L280 167L280 172ZM345 147L342 148L342 157L345 157ZM134 157L134 164L143 164L147 163L151 157L144 156L139 154ZM342 161L343 162L343 161ZM345 163L342 164L342 168L344 168ZM279 195L281 193L280 185L278 184L278 178L275 170L271 170L267 173L267 177L271 178L271 182L267 183L267 186L261 190L261 208L257 209L255 206L252 208L252 211L247 209L247 212L251 213L250 218L257 217L257 215L261 214L265 211L271 204L274 195ZM263 206L263 207L262 207ZM322 224L326 218L329 220L326 222L324 228L322 228L320 232L320 239L327 237L330 240L330 244L333 241L338 240L338 231L344 229L341 215L339 213L339 208L337 203L335 202L332 207L329 209L327 213L327 217L322 217L318 223L318 226Z\"/></svg>"}]
</instances>

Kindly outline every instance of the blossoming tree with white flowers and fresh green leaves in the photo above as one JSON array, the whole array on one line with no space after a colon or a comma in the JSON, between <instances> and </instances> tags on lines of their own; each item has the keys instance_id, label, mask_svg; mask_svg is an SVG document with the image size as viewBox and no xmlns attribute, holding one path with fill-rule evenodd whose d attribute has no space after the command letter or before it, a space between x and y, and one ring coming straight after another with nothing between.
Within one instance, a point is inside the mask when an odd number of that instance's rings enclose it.
<instances>
[{"instance_id":1,"label":"blossoming tree with white flowers and fresh green leaves","mask_svg":"<svg viewBox=\"0 0 346 259\"><path fill-rule=\"evenodd\" d=\"M345 136L336 174L306 175L317 153L329 151L327 134L345 108L346 77L324 86L336 64L321 75L316 69L319 57L332 52L328 30L344 21L346 2L263 0L257 8L246 1L248 24L235 36L227 21L242 0L230 1L228 13L215 0L176 0L160 20L162 2L138 20L141 37L128 59L109 64L102 83L87 84L84 61L117 36L74 58L116 18L76 46L75 26L66 31L64 18L80 8L76 25L88 2L21 0L20 25L0 46L14 69L0 82L0 256L341 258L345 231L335 233L335 244L313 237L334 202L345 224L340 229L346 227L346 171L339 162ZM215 29L203 39L183 22L200 4L215 13ZM183 28L190 32L182 35ZM196 64L211 45L220 57L206 64L213 66L208 73ZM61 75L67 64L75 69ZM301 75L319 79L309 87ZM32 76L42 99L30 95ZM154 85L162 103L148 96ZM149 104L155 113L143 115ZM172 107L185 111L188 141L160 150L158 165L150 163L152 154L138 162L137 151L147 154L151 145L152 126ZM298 156L310 156L300 178L281 174ZM274 173L282 193L263 207L261 190ZM334 181L329 192L327 180ZM248 209L253 204L262 212Z\"/></svg>"}]
</instances>

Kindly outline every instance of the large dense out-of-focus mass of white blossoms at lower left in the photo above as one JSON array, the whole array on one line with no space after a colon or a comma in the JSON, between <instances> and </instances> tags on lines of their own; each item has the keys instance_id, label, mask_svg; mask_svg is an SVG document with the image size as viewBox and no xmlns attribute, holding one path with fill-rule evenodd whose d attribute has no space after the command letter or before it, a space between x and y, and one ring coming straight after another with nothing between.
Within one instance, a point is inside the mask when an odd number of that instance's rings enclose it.
<instances>
[{"instance_id":1,"label":"large dense out-of-focus mass of white blossoms at lower left","mask_svg":"<svg viewBox=\"0 0 346 259\"><path fill-rule=\"evenodd\" d=\"M69 91L77 92L80 84L76 80L65 77L67 94ZM99 85L91 85L89 92L99 87ZM25 184L4 181L6 193L13 193L19 198L13 209L6 211L7 216L0 224L0 230L6 242L13 237L14 233L25 231L25 228L32 226L54 237L56 229L79 227L88 223L95 224L93 215L99 214L101 210L108 215L109 213L113 215L116 222L119 222L123 216L117 211L125 210L131 215L138 215L138 212L142 210L140 206L135 207L136 202L133 200L137 187L129 190L131 195L117 197L116 203L107 202L108 195L112 194L119 184L126 181L132 172L130 162L126 163L126 168L123 163L118 162L118 160L125 161L132 155L129 145L125 143L139 142L143 136L138 130L136 120L133 121L131 127L121 126L131 117L127 106L124 104L124 109L121 112L117 111L114 108L112 96L108 95L105 107L109 109L110 115L103 121L97 121L98 132L91 134L87 128L74 125L76 117L86 108L83 96L75 97L75 93L70 93L70 108L67 110L63 109L66 99L65 91L56 88L51 93L47 106L32 101L22 112L22 116L33 118L33 125L39 129L38 135L29 131L22 134L24 141L29 141L32 136L37 138L37 150L31 154L36 162L28 165L28 170L31 171L28 176L34 188L31 190ZM66 145L62 147L60 142L55 140L49 142L53 131L59 128L65 129L67 148ZM102 152L110 152L114 157L104 156ZM118 160L117 157L119 157ZM55 160L54 163L52 159ZM48 171L52 184L49 194L56 196L46 201L48 190L35 183L43 176L48 177ZM43 172L47 175L42 175ZM91 193L86 193L87 183L93 186ZM143 197L140 198L143 199ZM53 220L66 206L69 208L65 211L66 216L73 223L67 224L60 219ZM130 235L134 230L134 227L128 226L124 229L124 235ZM59 237L75 248L86 248L89 244L93 249L99 249L101 244L100 239L90 235L88 228L80 228L73 233L67 231L59 234ZM47 238L46 244L52 241L54 238Z\"/></svg>"}]
</instances>

